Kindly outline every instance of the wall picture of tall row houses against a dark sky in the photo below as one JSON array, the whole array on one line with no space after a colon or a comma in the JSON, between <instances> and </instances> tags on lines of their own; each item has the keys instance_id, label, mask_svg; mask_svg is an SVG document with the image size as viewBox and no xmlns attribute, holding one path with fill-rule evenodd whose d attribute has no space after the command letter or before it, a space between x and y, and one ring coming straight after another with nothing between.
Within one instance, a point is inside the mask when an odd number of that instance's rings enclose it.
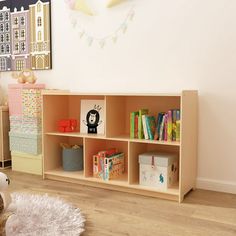
<instances>
[{"instance_id":1,"label":"wall picture of tall row houses against a dark sky","mask_svg":"<svg viewBox=\"0 0 236 236\"><path fill-rule=\"evenodd\" d=\"M51 68L51 0L0 1L0 72Z\"/></svg>"}]
</instances>

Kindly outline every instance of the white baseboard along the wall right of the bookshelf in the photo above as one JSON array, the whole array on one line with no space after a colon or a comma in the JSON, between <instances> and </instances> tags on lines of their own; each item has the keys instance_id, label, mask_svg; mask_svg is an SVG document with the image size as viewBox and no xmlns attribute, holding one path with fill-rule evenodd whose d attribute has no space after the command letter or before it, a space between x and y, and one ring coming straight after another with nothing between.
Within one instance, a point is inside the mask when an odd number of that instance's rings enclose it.
<instances>
[{"instance_id":1,"label":"white baseboard along the wall right of the bookshelf","mask_svg":"<svg viewBox=\"0 0 236 236\"><path fill-rule=\"evenodd\" d=\"M236 194L236 182L197 178L197 188Z\"/></svg>"}]
</instances>

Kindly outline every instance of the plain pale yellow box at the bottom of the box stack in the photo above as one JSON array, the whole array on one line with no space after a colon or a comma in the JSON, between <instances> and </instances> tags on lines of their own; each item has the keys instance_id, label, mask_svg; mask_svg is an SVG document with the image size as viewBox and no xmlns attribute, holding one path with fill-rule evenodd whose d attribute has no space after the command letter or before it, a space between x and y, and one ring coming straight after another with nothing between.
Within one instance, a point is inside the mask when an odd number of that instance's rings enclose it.
<instances>
[{"instance_id":1,"label":"plain pale yellow box at the bottom of the box stack","mask_svg":"<svg viewBox=\"0 0 236 236\"><path fill-rule=\"evenodd\" d=\"M42 155L23 152L11 152L12 170L42 175Z\"/></svg>"}]
</instances>

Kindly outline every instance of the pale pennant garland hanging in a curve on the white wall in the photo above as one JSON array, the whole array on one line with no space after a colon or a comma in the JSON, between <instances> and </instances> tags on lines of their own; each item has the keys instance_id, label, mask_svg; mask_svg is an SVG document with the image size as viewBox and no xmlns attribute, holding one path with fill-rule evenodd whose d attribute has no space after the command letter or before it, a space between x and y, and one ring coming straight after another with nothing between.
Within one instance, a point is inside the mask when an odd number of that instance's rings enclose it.
<instances>
[{"instance_id":1,"label":"pale pennant garland hanging in a curve on the white wall","mask_svg":"<svg viewBox=\"0 0 236 236\"><path fill-rule=\"evenodd\" d=\"M89 47L96 44L102 49L108 44L108 42L111 42L113 44L117 43L119 36L127 32L128 25L133 20L134 16L135 16L134 6L132 6L128 11L124 21L119 25L119 27L117 27L117 29L114 30L112 33L109 33L108 35L101 38L93 36L83 27L79 26L77 20L73 16L71 16L71 23L72 26L78 30L79 38L81 40L85 39Z\"/></svg>"}]
</instances>

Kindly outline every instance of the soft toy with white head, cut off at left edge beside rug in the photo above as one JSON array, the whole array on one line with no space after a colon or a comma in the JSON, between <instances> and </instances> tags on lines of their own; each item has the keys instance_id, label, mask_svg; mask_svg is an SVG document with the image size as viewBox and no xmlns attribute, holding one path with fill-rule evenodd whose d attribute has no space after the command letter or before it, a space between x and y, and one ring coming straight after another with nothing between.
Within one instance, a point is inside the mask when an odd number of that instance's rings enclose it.
<instances>
[{"instance_id":1,"label":"soft toy with white head, cut off at left edge beside rug","mask_svg":"<svg viewBox=\"0 0 236 236\"><path fill-rule=\"evenodd\" d=\"M6 222L12 213L7 213L5 210L11 203L11 195L7 192L7 187L10 180L4 173L0 172L0 235L6 235Z\"/></svg>"}]
</instances>

